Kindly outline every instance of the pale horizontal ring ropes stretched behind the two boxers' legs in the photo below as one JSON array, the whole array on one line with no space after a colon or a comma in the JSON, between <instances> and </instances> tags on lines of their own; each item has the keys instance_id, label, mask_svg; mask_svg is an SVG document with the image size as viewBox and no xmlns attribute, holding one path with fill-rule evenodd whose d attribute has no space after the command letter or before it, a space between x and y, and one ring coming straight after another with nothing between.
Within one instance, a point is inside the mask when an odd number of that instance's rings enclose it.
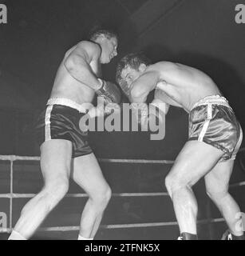
<instances>
[{"instance_id":1,"label":"pale horizontal ring ropes stretched behind the two boxers' legs","mask_svg":"<svg viewBox=\"0 0 245 256\"><path fill-rule=\"evenodd\" d=\"M239 150L239 152L245 151L245 148ZM0 233L10 233L13 230L13 198L33 198L36 194L17 194L13 189L14 178L14 161L40 161L40 157L28 157L28 156L15 156L15 155L0 155L0 161L10 161L10 193L0 194L0 198L10 199L10 227L0 229ZM171 160L146 160L146 159L105 159L98 158L99 162L120 162L120 163L143 163L143 164L173 164ZM243 168L243 166L242 166ZM237 182L231 184L230 187L244 186L245 182ZM156 197L156 196L168 196L167 192L159 193L114 193L114 197ZM66 194L66 198L85 198L87 194ZM199 220L198 224L210 224L213 222L224 222L223 218L207 218ZM177 226L177 222L152 222L152 223L132 223L132 224L113 224L113 225L101 225L103 229L122 229L122 228L140 228L140 227L153 227L153 226ZM80 230L80 226L53 226L53 227L41 227L39 231L77 231Z\"/></svg>"}]
</instances>

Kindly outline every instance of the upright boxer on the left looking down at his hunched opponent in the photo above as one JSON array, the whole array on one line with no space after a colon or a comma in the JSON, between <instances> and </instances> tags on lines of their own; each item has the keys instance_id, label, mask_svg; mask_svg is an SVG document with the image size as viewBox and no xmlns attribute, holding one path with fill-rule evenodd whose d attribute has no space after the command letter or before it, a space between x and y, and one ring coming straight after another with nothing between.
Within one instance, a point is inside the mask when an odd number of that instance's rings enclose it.
<instances>
[{"instance_id":1,"label":"upright boxer on the left looking down at his hunched opponent","mask_svg":"<svg viewBox=\"0 0 245 256\"><path fill-rule=\"evenodd\" d=\"M100 78L101 64L109 63L116 55L117 35L109 30L95 31L89 41L79 42L66 52L37 122L44 186L24 206L10 240L28 239L34 234L67 193L70 176L89 196L81 214L78 239L94 238L111 190L89 146L88 134L80 130L79 124L85 114L105 114L100 106L91 104L95 95L104 98L105 103L120 102L117 86Z\"/></svg>"}]
</instances>

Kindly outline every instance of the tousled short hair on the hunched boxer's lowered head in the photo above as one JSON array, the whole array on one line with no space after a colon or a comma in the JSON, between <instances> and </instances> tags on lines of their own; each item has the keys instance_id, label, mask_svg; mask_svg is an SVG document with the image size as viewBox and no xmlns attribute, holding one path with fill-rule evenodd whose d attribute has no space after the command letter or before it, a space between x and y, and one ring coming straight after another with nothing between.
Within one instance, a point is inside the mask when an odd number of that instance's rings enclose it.
<instances>
[{"instance_id":1,"label":"tousled short hair on the hunched boxer's lowered head","mask_svg":"<svg viewBox=\"0 0 245 256\"><path fill-rule=\"evenodd\" d=\"M121 72L128 66L133 70L139 70L140 64L144 64L146 66L150 65L151 61L147 58L143 53L131 53L121 58L121 60L117 63L117 71L116 71L116 81L120 84L121 82Z\"/></svg>"}]
</instances>

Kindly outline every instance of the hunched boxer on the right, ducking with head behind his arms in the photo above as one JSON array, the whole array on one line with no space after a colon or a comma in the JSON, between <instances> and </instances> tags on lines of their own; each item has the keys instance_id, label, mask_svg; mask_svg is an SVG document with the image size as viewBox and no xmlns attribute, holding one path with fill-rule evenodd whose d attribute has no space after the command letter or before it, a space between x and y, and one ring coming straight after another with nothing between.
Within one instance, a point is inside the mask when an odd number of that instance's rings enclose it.
<instances>
[{"instance_id":1,"label":"hunched boxer on the right, ducking with head behind his arms","mask_svg":"<svg viewBox=\"0 0 245 256\"><path fill-rule=\"evenodd\" d=\"M189 114L188 142L165 179L180 227L179 239L197 239L198 207L192 186L202 177L208 196L227 222L230 237L244 239L243 230L237 228L242 222L237 219L239 206L228 192L243 132L215 82L202 71L180 63L150 65L142 54L128 54L121 59L117 82L130 102L142 104L156 89L158 101L182 107Z\"/></svg>"}]
</instances>

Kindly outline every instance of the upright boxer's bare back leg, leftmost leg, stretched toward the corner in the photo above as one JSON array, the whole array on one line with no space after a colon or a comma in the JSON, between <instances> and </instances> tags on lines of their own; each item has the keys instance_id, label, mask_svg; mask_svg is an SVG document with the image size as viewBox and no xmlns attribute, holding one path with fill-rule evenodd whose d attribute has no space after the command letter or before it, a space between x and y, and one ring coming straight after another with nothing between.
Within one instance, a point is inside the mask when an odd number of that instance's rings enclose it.
<instances>
[{"instance_id":1,"label":"upright boxer's bare back leg, leftmost leg, stretched toward the corner","mask_svg":"<svg viewBox=\"0 0 245 256\"><path fill-rule=\"evenodd\" d=\"M53 139L41 145L41 173L44 187L22 210L14 230L28 239L38 229L69 187L72 143ZM10 237L11 238L11 237Z\"/></svg>"}]
</instances>

